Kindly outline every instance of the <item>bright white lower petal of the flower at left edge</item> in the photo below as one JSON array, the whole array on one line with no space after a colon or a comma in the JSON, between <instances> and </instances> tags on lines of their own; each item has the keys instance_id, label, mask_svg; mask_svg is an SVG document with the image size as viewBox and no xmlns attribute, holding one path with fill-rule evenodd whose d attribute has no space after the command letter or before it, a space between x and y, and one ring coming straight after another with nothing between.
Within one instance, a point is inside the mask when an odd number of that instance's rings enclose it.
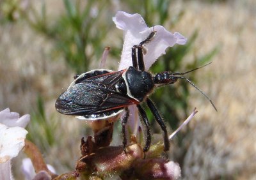
<instances>
[{"instance_id":1,"label":"bright white lower petal of the flower at left edge","mask_svg":"<svg viewBox=\"0 0 256 180\"><path fill-rule=\"evenodd\" d=\"M9 128L0 124L0 163L19 154L25 145L25 137L28 131L20 127Z\"/></svg>"}]
</instances>

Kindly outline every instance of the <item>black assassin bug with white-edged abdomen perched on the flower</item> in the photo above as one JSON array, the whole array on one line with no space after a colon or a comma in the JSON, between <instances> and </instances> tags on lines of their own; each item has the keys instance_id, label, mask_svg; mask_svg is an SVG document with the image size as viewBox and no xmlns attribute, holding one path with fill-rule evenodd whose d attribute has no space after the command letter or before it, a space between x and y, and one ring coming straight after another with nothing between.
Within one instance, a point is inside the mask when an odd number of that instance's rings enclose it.
<instances>
[{"instance_id":1,"label":"black assassin bug with white-edged abdomen perched on the flower","mask_svg":"<svg viewBox=\"0 0 256 180\"><path fill-rule=\"evenodd\" d=\"M127 144L125 123L127 123L129 117L127 107L136 105L147 128L147 140L143 148L143 151L147 152L151 144L150 124L145 110L141 107L141 103L146 102L164 132L164 151L168 151L170 144L166 126L148 95L152 93L155 87L173 84L178 79L185 79L200 93L204 94L204 92L186 77L179 76L201 67L185 73L163 71L152 75L145 71L143 46L150 42L155 34L156 31L152 31L144 41L132 47L132 66L129 66L129 68L120 71L92 70L75 76L74 82L56 101L56 110L61 114L75 115L79 119L85 120L108 120L109 118L118 117L118 114L125 110L125 116L122 118L125 149ZM212 103L208 96L205 94L204 96ZM216 109L213 103L212 106Z\"/></svg>"}]
</instances>

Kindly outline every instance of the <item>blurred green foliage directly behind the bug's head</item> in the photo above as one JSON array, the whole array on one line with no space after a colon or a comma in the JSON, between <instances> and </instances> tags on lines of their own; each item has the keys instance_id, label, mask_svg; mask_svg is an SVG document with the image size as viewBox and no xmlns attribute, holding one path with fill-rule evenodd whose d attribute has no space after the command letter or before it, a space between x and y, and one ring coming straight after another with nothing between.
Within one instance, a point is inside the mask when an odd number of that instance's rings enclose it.
<instances>
[{"instance_id":1,"label":"blurred green foliage directly behind the bug's head","mask_svg":"<svg viewBox=\"0 0 256 180\"><path fill-rule=\"evenodd\" d=\"M176 45L175 47L169 49L166 54L152 66L150 70L153 72L179 70L188 71L209 62L211 58L218 52L218 48L212 49L202 57L195 57L191 63L184 64L183 62L189 52L193 50L197 36L198 31L194 31L192 36L188 38L186 45ZM186 77L195 82L195 73L197 72L198 71L193 71L187 74ZM162 112L163 117L166 117L166 121L168 121L173 129L177 128L180 120L188 117L188 113L191 111L188 109L190 86L191 85L186 82L186 80L179 80L173 85L157 89L157 91L152 94L152 99L157 104L159 111ZM204 96L202 96L202 98L204 98ZM180 114L182 115L180 116Z\"/></svg>"}]
</instances>

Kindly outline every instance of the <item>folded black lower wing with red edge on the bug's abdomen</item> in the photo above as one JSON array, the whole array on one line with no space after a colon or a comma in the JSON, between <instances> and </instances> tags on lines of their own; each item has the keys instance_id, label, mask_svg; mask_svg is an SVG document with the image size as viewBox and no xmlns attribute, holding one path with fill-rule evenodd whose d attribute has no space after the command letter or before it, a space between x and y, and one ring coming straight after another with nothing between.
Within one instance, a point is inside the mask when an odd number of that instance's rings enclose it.
<instances>
[{"instance_id":1,"label":"folded black lower wing with red edge on the bug's abdomen","mask_svg":"<svg viewBox=\"0 0 256 180\"><path fill-rule=\"evenodd\" d=\"M134 103L137 101L128 96L88 81L75 84L61 94L56 101L56 110L90 119L111 116Z\"/></svg>"}]
</instances>

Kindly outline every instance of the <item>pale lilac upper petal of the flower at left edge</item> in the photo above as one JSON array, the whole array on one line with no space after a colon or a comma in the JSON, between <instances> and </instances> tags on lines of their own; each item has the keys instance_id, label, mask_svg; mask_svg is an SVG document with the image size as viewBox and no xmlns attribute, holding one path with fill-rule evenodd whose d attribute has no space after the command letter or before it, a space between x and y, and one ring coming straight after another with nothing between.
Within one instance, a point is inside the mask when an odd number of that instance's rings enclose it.
<instances>
[{"instance_id":1,"label":"pale lilac upper petal of the flower at left edge","mask_svg":"<svg viewBox=\"0 0 256 180\"><path fill-rule=\"evenodd\" d=\"M29 114L22 117L17 112L10 112L10 109L4 109L0 112L0 123L9 127L19 126L25 128L30 121Z\"/></svg>"}]
</instances>

